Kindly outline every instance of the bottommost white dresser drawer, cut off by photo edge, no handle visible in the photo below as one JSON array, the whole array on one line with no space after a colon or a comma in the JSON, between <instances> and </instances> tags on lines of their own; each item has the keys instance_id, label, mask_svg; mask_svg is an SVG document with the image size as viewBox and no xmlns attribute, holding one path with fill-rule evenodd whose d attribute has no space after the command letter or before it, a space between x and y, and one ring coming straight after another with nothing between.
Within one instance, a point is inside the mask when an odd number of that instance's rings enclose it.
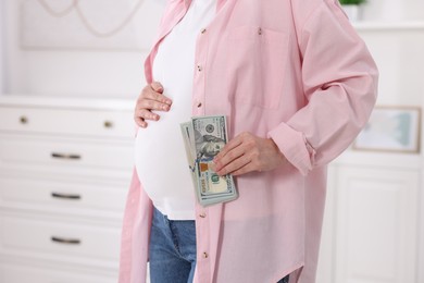
<instances>
[{"instance_id":1,"label":"bottommost white dresser drawer, cut off by photo edge, no handle visible","mask_svg":"<svg viewBox=\"0 0 424 283\"><path fill-rule=\"evenodd\" d=\"M2 283L116 283L115 275L96 274L96 271L80 272L62 270L60 267L12 266L0 263L0 282Z\"/></svg>"}]
</instances>

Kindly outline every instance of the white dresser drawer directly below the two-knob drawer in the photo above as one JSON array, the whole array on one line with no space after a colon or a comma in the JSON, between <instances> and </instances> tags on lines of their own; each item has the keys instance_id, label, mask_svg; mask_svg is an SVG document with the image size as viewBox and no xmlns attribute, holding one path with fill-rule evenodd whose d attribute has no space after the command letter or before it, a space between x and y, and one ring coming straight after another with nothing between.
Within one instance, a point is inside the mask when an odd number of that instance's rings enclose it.
<instances>
[{"instance_id":1,"label":"white dresser drawer directly below the two-knob drawer","mask_svg":"<svg viewBox=\"0 0 424 283\"><path fill-rule=\"evenodd\" d=\"M26 169L50 167L77 170L128 171L134 165L132 143L70 140L0 135L0 167Z\"/></svg>"}]
</instances>

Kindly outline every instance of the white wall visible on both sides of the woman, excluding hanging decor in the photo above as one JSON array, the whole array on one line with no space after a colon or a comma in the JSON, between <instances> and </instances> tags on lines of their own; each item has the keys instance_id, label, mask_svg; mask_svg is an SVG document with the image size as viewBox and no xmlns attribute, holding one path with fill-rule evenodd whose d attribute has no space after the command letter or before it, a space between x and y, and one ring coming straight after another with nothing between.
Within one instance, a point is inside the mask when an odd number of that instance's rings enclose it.
<instances>
[{"instance_id":1,"label":"white wall visible on both sides of the woman, excluding hanging decor","mask_svg":"<svg viewBox=\"0 0 424 283\"><path fill-rule=\"evenodd\" d=\"M4 52L5 91L11 94L135 97L145 85L146 50L23 49L20 7L25 1L1 0L7 26ZM154 32L165 0L150 0L155 7L142 14ZM48 1L54 3L54 1ZM84 3L84 1L80 1ZM146 2L149 2L146 0ZM153 8L153 9L152 9ZM367 0L364 22L424 22L423 0ZM151 41L153 32L142 34ZM382 103L421 103L424 46L422 30L360 30L382 72ZM397 39L396 39L397 38ZM402 38L402 40L398 40ZM394 40L396 39L396 40ZM404 39L404 40L403 40ZM417 56L416 56L417 54ZM390 61L387 60L390 58Z\"/></svg>"}]
</instances>

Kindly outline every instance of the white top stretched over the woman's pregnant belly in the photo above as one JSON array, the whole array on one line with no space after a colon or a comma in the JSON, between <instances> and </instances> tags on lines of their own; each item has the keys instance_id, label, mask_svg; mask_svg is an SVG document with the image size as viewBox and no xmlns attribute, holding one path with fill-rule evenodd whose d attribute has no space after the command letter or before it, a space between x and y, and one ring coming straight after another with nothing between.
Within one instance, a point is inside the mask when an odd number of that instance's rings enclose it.
<instances>
[{"instance_id":1,"label":"white top stretched over the woman's pregnant belly","mask_svg":"<svg viewBox=\"0 0 424 283\"><path fill-rule=\"evenodd\" d=\"M195 219L195 190L179 124L191 118L196 39L215 15L216 0L194 0L183 20L162 40L153 62L153 79L173 100L160 121L139 128L135 163L153 205L172 220Z\"/></svg>"}]
</instances>

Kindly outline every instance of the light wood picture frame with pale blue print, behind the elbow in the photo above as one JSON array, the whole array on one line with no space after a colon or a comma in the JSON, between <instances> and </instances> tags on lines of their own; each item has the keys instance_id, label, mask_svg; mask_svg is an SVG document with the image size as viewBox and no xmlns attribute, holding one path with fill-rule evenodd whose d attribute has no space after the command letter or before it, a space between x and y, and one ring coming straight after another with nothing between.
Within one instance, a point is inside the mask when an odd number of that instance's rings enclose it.
<instances>
[{"instance_id":1,"label":"light wood picture frame with pale blue print, behind the elbow","mask_svg":"<svg viewBox=\"0 0 424 283\"><path fill-rule=\"evenodd\" d=\"M420 107L377 106L352 149L419 153L420 136Z\"/></svg>"}]
</instances>

